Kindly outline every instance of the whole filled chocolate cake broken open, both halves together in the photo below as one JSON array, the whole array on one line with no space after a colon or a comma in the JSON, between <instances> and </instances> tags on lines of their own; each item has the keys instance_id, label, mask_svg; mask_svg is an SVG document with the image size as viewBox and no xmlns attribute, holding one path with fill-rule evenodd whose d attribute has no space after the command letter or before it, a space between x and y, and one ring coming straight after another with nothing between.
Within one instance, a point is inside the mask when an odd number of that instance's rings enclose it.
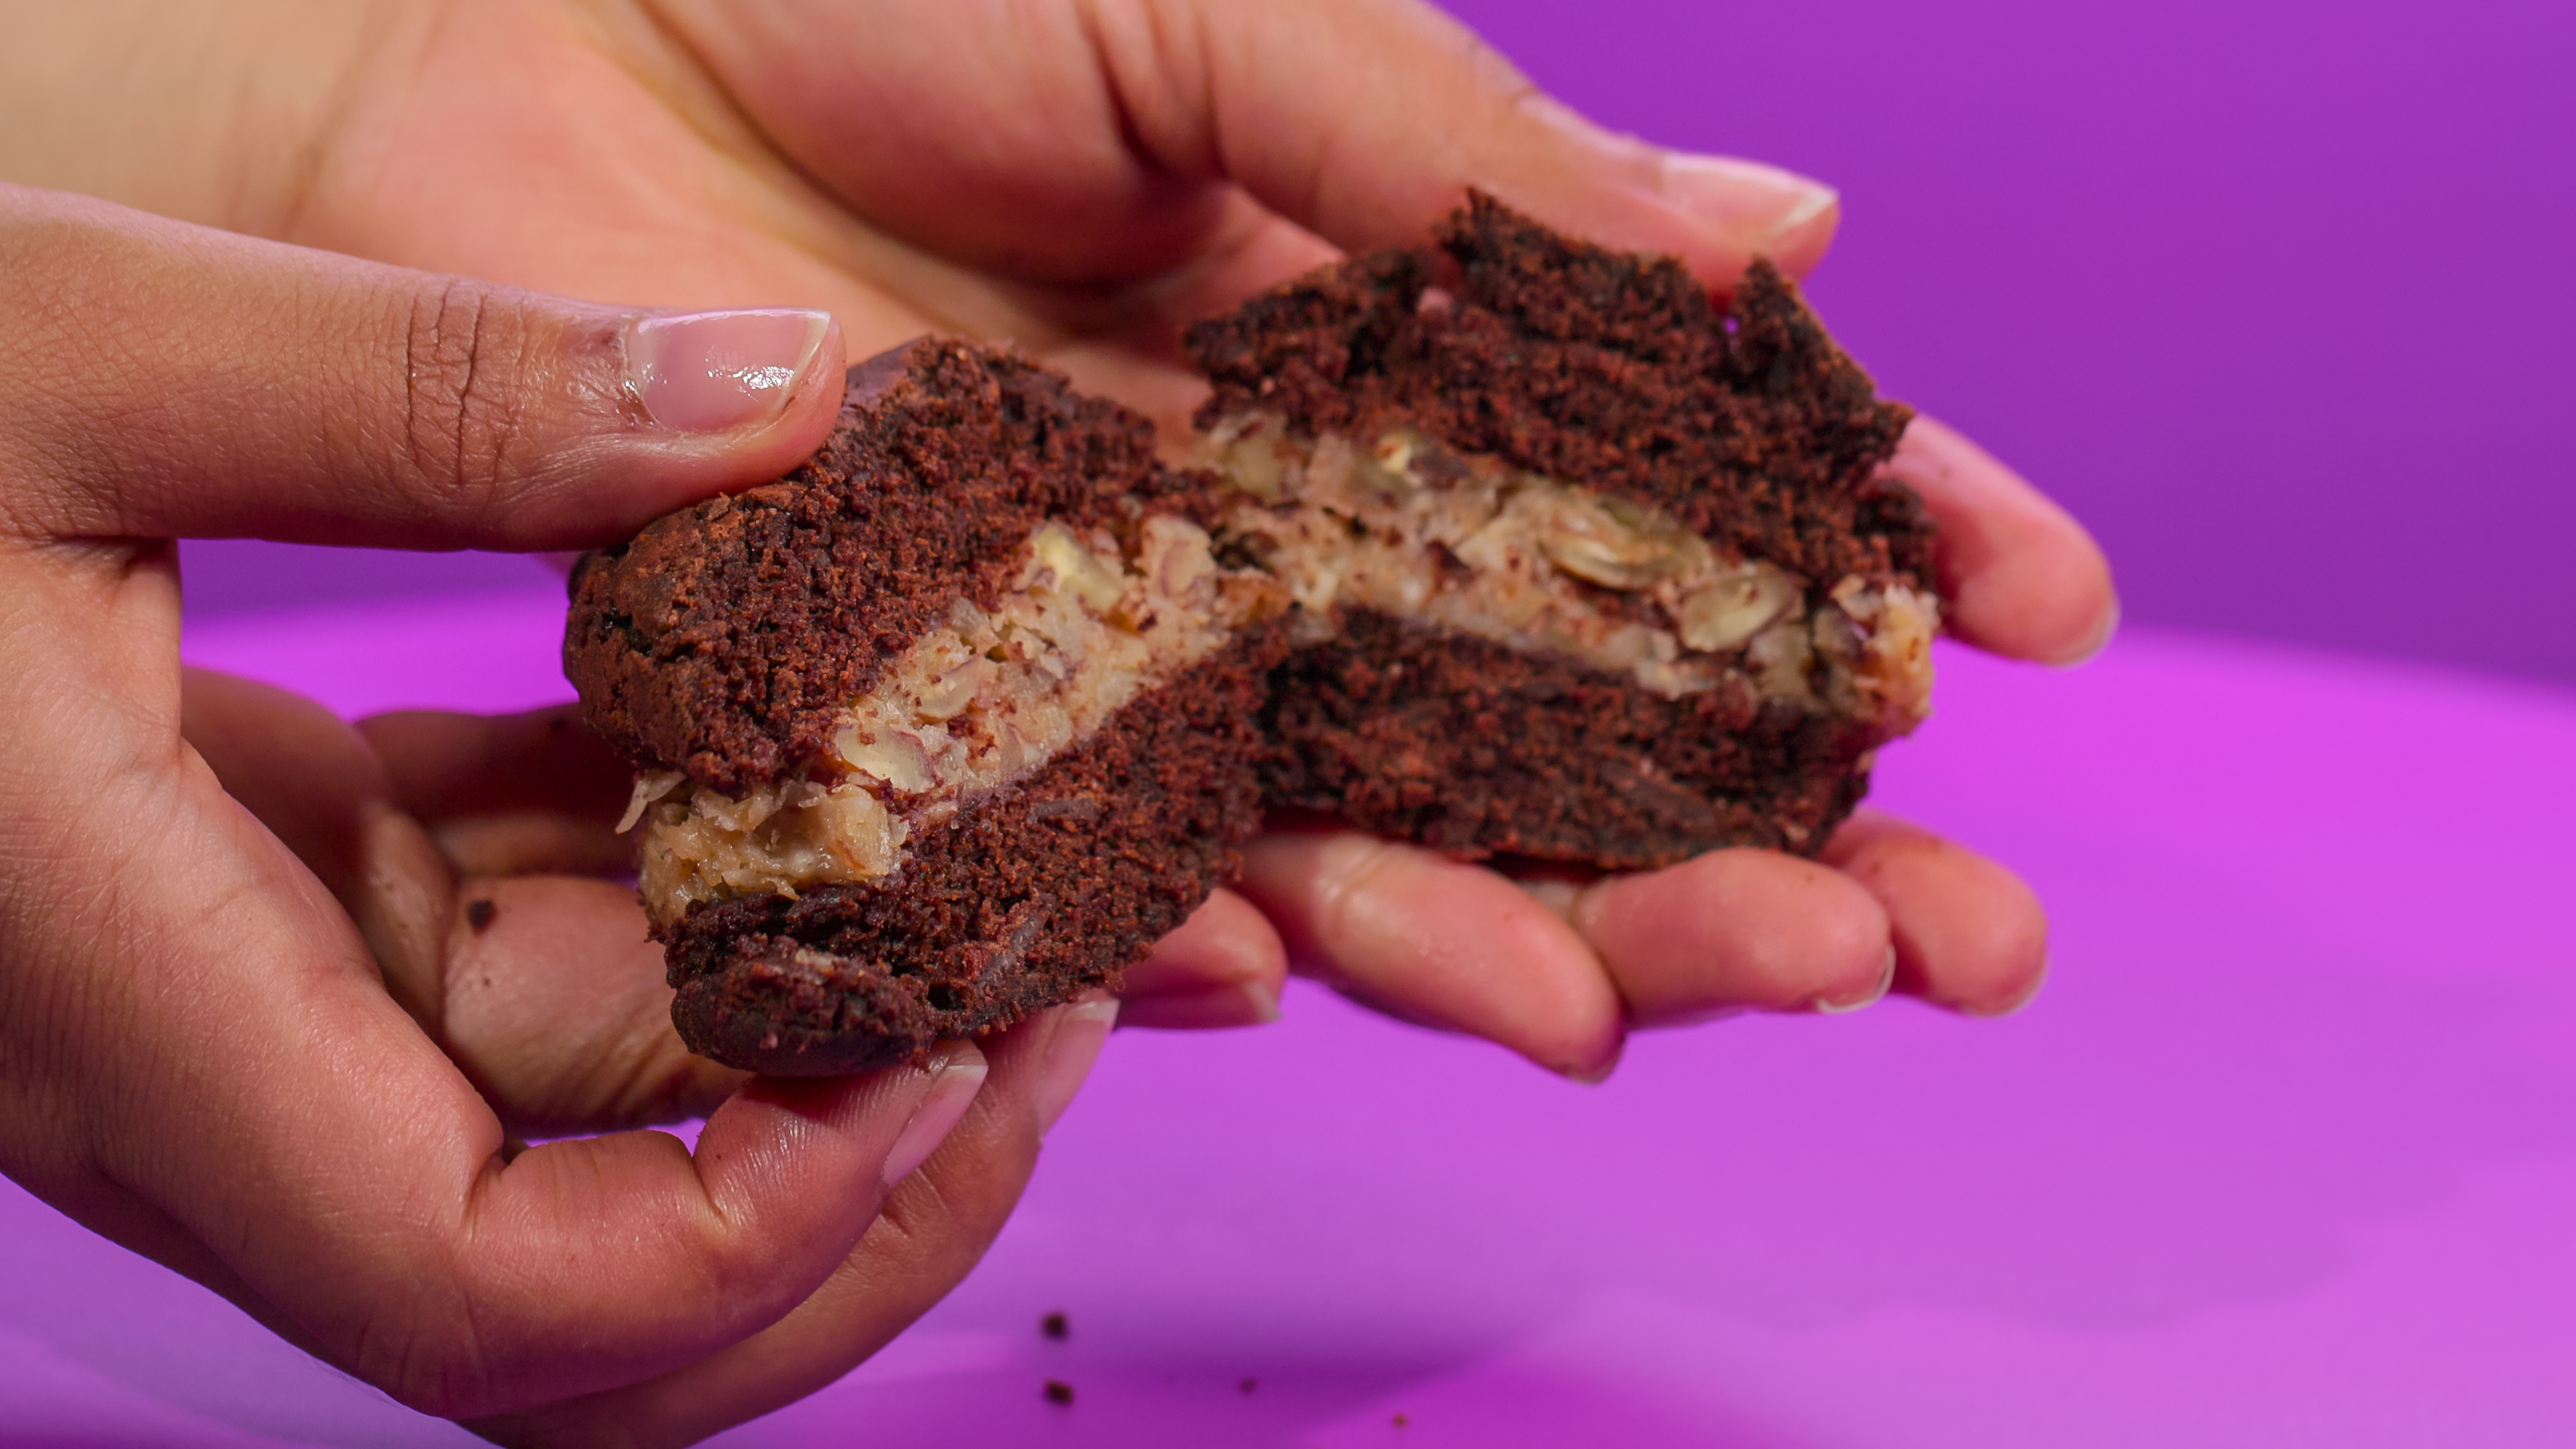
<instances>
[{"instance_id":1,"label":"whole filled chocolate cake broken open, both halves together","mask_svg":"<svg viewBox=\"0 0 2576 1449\"><path fill-rule=\"evenodd\" d=\"M1772 268L1721 309L1473 196L1188 343L1203 467L920 340L809 464L574 572L693 1049L853 1073L1113 982L1265 807L1468 859L1811 853L1922 719L1906 413Z\"/></svg>"}]
</instances>

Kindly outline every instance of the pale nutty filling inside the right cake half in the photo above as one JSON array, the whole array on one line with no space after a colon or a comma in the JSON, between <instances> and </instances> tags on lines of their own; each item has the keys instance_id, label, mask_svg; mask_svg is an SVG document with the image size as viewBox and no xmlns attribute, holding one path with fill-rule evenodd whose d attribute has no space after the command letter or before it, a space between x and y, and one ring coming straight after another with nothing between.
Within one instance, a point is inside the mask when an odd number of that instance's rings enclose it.
<instances>
[{"instance_id":1,"label":"pale nutty filling inside the right cake half","mask_svg":"<svg viewBox=\"0 0 2576 1449\"><path fill-rule=\"evenodd\" d=\"M1728 557L1654 508L1605 498L1412 428L1298 438L1236 415L1200 464L1244 503L1218 529L1329 629L1332 606L1569 655L1680 699L1749 681L1765 699L1922 722L1940 606L1901 583L1819 585Z\"/></svg>"}]
</instances>

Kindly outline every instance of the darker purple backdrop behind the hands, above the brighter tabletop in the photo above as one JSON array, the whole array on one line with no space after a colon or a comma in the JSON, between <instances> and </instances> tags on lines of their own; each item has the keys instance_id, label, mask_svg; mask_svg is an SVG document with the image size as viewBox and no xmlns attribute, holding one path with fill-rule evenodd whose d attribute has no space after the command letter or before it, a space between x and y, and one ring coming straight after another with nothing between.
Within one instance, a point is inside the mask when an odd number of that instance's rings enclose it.
<instances>
[{"instance_id":1,"label":"darker purple backdrop behind the hands, above the brighter tabletop","mask_svg":"<svg viewBox=\"0 0 2576 1449\"><path fill-rule=\"evenodd\" d=\"M2110 547L2128 616L2576 681L2563 0L1455 0L1592 116L1844 188L1886 389ZM191 549L201 611L520 583Z\"/></svg>"}]
</instances>

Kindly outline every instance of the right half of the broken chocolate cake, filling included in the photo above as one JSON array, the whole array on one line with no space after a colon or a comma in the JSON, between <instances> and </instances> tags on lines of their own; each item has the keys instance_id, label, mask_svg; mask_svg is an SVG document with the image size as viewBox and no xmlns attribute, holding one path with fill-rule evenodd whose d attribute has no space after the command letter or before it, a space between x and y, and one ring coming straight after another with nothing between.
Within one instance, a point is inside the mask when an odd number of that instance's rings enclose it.
<instances>
[{"instance_id":1,"label":"right half of the broken chocolate cake, filling included","mask_svg":"<svg viewBox=\"0 0 2576 1449\"><path fill-rule=\"evenodd\" d=\"M1298 603L1273 804L1471 859L1811 853L1924 717L1909 415L1770 266L1718 309L1471 196L1188 345L1218 557Z\"/></svg>"}]
</instances>

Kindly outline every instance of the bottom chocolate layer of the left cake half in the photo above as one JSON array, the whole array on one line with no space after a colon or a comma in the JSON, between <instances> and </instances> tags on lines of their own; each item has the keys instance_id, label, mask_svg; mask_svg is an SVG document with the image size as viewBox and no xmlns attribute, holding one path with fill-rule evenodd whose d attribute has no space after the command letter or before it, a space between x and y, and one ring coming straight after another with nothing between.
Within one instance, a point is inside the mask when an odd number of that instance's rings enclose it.
<instances>
[{"instance_id":1,"label":"bottom chocolate layer of the left cake half","mask_svg":"<svg viewBox=\"0 0 2576 1449\"><path fill-rule=\"evenodd\" d=\"M1249 629L925 825L889 879L688 908L665 933L680 1036L734 1067L860 1073L1115 985L1260 828L1278 632Z\"/></svg>"}]
</instances>

